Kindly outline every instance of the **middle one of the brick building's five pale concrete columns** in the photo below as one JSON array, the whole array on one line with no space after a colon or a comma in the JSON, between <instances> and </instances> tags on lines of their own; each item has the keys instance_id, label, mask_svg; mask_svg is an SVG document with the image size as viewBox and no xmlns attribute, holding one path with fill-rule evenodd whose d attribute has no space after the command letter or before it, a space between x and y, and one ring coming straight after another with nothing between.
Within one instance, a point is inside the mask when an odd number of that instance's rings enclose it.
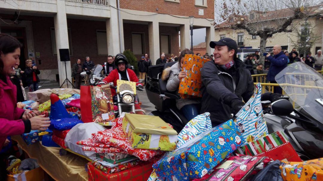
<instances>
[{"instance_id":1,"label":"middle one of the brick building's five pale concrete columns","mask_svg":"<svg viewBox=\"0 0 323 181\"><path fill-rule=\"evenodd\" d=\"M160 58L160 46L159 46L159 23L150 22L148 23L148 34L149 34L149 56L152 65L156 64L156 60Z\"/></svg>"}]
</instances>

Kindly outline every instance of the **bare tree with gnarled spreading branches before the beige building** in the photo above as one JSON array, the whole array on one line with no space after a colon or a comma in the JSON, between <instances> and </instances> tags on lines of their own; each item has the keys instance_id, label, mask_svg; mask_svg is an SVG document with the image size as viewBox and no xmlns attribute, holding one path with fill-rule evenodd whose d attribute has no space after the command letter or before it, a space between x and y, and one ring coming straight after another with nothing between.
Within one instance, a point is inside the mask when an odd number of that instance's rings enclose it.
<instances>
[{"instance_id":1,"label":"bare tree with gnarled spreading branches before the beige building","mask_svg":"<svg viewBox=\"0 0 323 181\"><path fill-rule=\"evenodd\" d=\"M260 52L265 52L267 38L276 33L292 32L299 22L319 18L322 0L222 0L215 1L215 28L245 29L260 37ZM265 57L260 55L260 62Z\"/></svg>"}]
</instances>

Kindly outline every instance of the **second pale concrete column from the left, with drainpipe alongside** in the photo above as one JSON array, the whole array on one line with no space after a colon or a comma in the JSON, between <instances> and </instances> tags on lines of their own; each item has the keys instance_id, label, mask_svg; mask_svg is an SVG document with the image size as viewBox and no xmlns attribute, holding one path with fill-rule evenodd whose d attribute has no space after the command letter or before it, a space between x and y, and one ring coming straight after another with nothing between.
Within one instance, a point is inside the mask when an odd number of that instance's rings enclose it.
<instances>
[{"instance_id":1,"label":"second pale concrete column from the left, with drainpipe alongside","mask_svg":"<svg viewBox=\"0 0 323 181\"><path fill-rule=\"evenodd\" d=\"M110 1L110 5L117 7L116 1ZM118 27L118 10L110 8L110 18L106 20L107 42L109 55L120 53L120 39Z\"/></svg>"}]
</instances>

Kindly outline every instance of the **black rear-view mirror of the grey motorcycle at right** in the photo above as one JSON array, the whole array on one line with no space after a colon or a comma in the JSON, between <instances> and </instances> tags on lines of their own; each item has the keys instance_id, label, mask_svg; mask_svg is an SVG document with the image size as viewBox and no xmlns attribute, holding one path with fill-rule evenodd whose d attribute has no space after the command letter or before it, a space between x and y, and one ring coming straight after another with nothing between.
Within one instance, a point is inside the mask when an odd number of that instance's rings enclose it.
<instances>
[{"instance_id":1,"label":"black rear-view mirror of the grey motorcycle at right","mask_svg":"<svg viewBox=\"0 0 323 181\"><path fill-rule=\"evenodd\" d=\"M292 103L286 99L280 99L271 103L271 112L276 116L288 116L293 111Z\"/></svg>"}]
</instances>

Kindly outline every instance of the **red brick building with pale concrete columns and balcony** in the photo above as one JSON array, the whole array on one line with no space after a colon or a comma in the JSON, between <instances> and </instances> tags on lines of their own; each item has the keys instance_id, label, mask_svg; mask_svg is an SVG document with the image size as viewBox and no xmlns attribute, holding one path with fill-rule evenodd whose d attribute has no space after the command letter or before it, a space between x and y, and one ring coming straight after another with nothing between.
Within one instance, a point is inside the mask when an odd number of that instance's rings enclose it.
<instances>
[{"instance_id":1,"label":"red brick building with pale concrete columns and balcony","mask_svg":"<svg viewBox=\"0 0 323 181\"><path fill-rule=\"evenodd\" d=\"M206 28L214 39L212 0L5 0L0 1L0 32L22 44L20 67L32 59L40 79L70 78L70 66L85 56L103 64L107 55L130 49L152 62L190 48L189 16L193 29ZM59 49L69 49L71 62L60 61ZM207 52L213 52L207 48Z\"/></svg>"}]
</instances>

